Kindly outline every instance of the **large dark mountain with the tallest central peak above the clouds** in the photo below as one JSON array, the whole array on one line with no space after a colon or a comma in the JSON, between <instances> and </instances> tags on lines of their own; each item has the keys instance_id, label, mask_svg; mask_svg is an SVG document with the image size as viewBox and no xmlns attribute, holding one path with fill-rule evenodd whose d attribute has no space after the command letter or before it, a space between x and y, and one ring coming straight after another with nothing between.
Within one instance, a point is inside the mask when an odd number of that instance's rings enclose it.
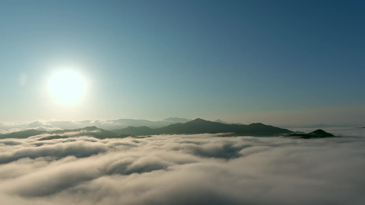
<instances>
[{"instance_id":1,"label":"large dark mountain with the tallest central peak above the clouds","mask_svg":"<svg viewBox=\"0 0 365 205\"><path fill-rule=\"evenodd\" d=\"M124 129L112 130L119 134L132 135L160 135L160 134L203 134L203 133L227 133L234 132L235 135L250 136L272 136L278 134L289 134L293 131L264 125L262 123L252 123L250 125L223 124L197 118L187 123L170 124L162 128L148 127L128 127Z\"/></svg>"}]
</instances>

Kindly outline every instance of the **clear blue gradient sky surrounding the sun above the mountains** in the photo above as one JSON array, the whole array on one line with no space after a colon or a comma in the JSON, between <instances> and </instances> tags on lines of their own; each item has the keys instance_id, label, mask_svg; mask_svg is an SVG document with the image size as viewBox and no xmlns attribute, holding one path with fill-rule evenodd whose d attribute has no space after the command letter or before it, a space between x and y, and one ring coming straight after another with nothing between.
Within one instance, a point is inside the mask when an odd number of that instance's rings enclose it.
<instances>
[{"instance_id":1,"label":"clear blue gradient sky surrounding the sun above the mountains","mask_svg":"<svg viewBox=\"0 0 365 205\"><path fill-rule=\"evenodd\" d=\"M364 121L364 11L365 1L0 1L0 121ZM73 104L49 92L62 69L85 80Z\"/></svg>"}]
</instances>

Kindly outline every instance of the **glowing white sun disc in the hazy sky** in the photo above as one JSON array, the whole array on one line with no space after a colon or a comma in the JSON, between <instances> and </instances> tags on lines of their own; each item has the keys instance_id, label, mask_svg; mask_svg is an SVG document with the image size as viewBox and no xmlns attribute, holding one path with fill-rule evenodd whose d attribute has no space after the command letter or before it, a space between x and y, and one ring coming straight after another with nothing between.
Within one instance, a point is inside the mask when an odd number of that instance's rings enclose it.
<instances>
[{"instance_id":1,"label":"glowing white sun disc in the hazy sky","mask_svg":"<svg viewBox=\"0 0 365 205\"><path fill-rule=\"evenodd\" d=\"M58 71L50 78L49 89L58 102L73 104L80 100L84 94L85 81L75 71Z\"/></svg>"}]
</instances>

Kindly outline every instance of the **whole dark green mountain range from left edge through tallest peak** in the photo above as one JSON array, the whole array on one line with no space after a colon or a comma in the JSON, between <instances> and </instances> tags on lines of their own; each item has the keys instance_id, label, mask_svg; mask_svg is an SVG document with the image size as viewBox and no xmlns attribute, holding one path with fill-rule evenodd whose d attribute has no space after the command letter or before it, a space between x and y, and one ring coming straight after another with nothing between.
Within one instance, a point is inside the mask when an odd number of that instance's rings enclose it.
<instances>
[{"instance_id":1,"label":"whole dark green mountain range from left edge through tallest peak","mask_svg":"<svg viewBox=\"0 0 365 205\"><path fill-rule=\"evenodd\" d=\"M132 127L114 130L105 130L96 126L88 126L78 129L63 129L52 132L38 131L30 129L20 132L12 132L10 134L1 135L0 139L5 138L28 138L30 136L49 134L43 136L41 139L57 139L66 138L63 135L69 136L93 136L95 138L124 138L127 136L148 136L148 135L161 135L161 134L203 134L203 133L234 133L234 135L249 135L249 136L272 136L280 134L291 134L293 131L288 129L282 129L273 127L271 125L264 125L262 123L252 123L250 125L239 124L223 124L218 122L212 122L197 118L186 123L170 124L162 128L150 128L147 126ZM46 137L46 138L45 138Z\"/></svg>"}]
</instances>

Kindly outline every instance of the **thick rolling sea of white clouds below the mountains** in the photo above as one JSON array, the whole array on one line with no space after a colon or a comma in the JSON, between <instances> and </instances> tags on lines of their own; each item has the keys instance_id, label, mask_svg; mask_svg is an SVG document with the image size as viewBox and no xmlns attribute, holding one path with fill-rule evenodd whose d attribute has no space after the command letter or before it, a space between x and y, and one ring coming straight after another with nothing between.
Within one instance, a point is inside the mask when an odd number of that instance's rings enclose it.
<instances>
[{"instance_id":1,"label":"thick rolling sea of white clouds below the mountains","mask_svg":"<svg viewBox=\"0 0 365 205\"><path fill-rule=\"evenodd\" d=\"M354 204L365 138L0 140L0 204Z\"/></svg>"}]
</instances>

